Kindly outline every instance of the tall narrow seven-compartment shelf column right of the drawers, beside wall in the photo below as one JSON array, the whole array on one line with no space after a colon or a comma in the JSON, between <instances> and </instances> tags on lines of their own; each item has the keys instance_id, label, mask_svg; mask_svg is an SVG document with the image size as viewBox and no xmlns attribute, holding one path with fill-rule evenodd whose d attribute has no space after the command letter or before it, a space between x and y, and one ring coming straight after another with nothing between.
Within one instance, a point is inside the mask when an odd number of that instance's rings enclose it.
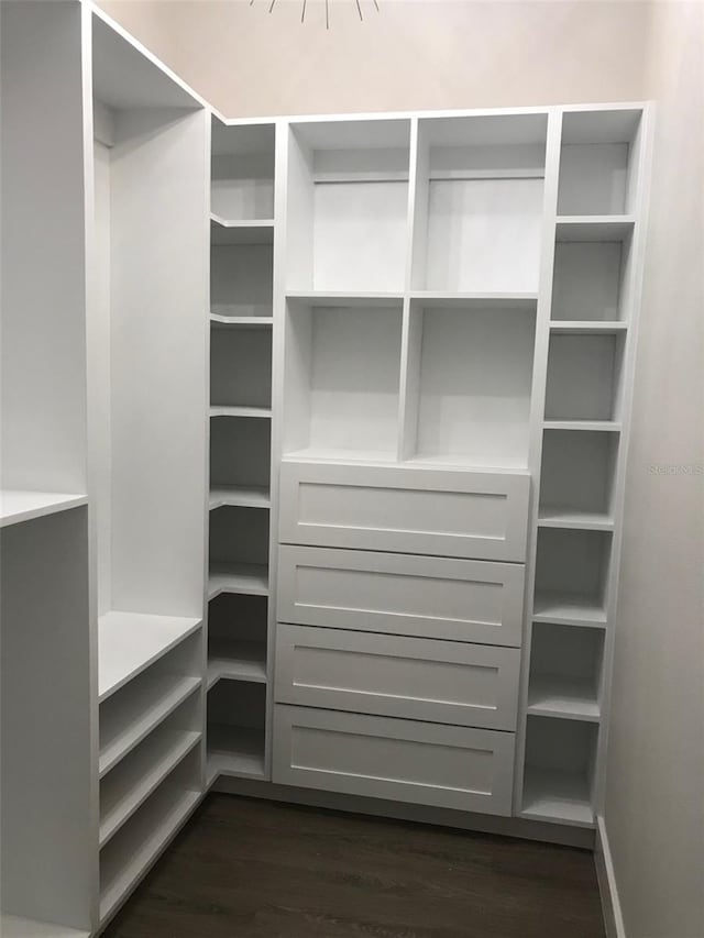
<instances>
[{"instance_id":1,"label":"tall narrow seven-compartment shelf column right of the drawers, beside wall","mask_svg":"<svg viewBox=\"0 0 704 938\"><path fill-rule=\"evenodd\" d=\"M606 747L647 140L641 108L565 109L548 153L517 801L522 817L586 827Z\"/></svg>"}]
</instances>

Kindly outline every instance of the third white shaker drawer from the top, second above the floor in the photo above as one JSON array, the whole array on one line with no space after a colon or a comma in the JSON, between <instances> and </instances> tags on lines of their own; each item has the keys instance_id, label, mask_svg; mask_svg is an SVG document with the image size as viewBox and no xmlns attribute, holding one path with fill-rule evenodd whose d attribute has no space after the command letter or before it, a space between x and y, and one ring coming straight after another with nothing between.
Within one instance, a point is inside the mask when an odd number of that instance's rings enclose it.
<instances>
[{"instance_id":1,"label":"third white shaker drawer from the top, second above the floor","mask_svg":"<svg viewBox=\"0 0 704 938\"><path fill-rule=\"evenodd\" d=\"M520 651L279 625L276 700L332 710L516 729Z\"/></svg>"}]
</instances>

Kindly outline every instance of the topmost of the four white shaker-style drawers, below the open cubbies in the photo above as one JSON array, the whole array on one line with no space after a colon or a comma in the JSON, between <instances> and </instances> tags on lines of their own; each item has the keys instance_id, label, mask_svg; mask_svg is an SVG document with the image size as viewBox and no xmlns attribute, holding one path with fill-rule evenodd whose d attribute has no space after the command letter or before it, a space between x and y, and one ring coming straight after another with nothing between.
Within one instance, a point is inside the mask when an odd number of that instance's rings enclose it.
<instances>
[{"instance_id":1,"label":"topmost of the four white shaker-style drawers, below the open cubbies","mask_svg":"<svg viewBox=\"0 0 704 938\"><path fill-rule=\"evenodd\" d=\"M287 544L525 561L527 473L284 462Z\"/></svg>"}]
</instances>

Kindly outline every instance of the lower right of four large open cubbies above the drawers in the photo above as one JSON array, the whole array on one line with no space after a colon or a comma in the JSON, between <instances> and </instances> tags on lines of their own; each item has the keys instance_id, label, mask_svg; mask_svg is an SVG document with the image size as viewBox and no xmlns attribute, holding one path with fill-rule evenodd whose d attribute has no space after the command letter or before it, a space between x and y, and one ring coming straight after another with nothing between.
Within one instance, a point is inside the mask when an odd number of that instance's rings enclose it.
<instances>
[{"instance_id":1,"label":"lower right of four large open cubbies above the drawers","mask_svg":"<svg viewBox=\"0 0 704 938\"><path fill-rule=\"evenodd\" d=\"M406 454L420 462L525 467L535 328L531 301L514 308L414 301Z\"/></svg>"}]
</instances>

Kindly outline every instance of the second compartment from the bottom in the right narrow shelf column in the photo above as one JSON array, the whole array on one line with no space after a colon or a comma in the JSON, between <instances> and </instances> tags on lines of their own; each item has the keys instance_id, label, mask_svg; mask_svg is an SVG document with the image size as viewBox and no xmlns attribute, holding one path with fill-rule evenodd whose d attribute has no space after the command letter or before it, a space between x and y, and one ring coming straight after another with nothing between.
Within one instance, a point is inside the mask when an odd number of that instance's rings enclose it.
<instances>
[{"instance_id":1,"label":"second compartment from the bottom in the right narrow shelf column","mask_svg":"<svg viewBox=\"0 0 704 938\"><path fill-rule=\"evenodd\" d=\"M528 711L598 720L603 655L601 629L536 622Z\"/></svg>"}]
</instances>

